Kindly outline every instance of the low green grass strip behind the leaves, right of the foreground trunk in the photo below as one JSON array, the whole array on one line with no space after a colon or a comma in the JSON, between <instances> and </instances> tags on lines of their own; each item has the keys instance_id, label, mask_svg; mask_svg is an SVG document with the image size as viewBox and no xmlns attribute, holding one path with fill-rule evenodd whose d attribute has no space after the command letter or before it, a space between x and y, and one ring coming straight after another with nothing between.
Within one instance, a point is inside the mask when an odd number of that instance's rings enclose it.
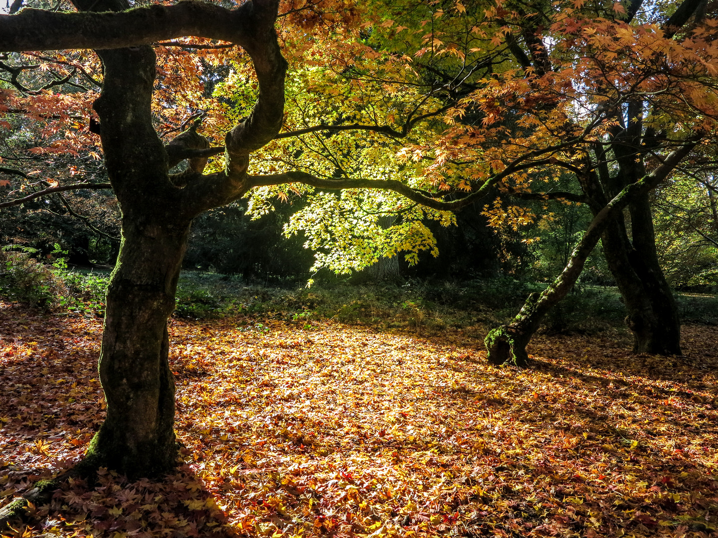
<instances>
[{"instance_id":1,"label":"low green grass strip behind the leaves, right of the foreground trunk","mask_svg":"<svg viewBox=\"0 0 718 538\"><path fill-rule=\"evenodd\" d=\"M327 280L312 288L248 285L210 273L182 273L175 315L207 319L227 316L281 319L299 326L332 319L377 329L434 334L452 329L485 331L516 316L526 296L544 286L513 278L464 283L410 280L354 285ZM702 303L696 300L689 308ZM544 330L592 334L623 324L625 313L615 288L584 287L571 293L546 317Z\"/></svg>"}]
</instances>

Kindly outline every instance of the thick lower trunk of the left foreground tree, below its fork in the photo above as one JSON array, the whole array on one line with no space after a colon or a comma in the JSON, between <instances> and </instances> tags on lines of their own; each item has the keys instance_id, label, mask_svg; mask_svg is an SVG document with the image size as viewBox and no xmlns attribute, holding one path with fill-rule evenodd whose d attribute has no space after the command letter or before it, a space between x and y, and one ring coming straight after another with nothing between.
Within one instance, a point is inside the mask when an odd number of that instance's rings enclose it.
<instances>
[{"instance_id":1,"label":"thick lower trunk of the left foreground tree, below its fork","mask_svg":"<svg viewBox=\"0 0 718 538\"><path fill-rule=\"evenodd\" d=\"M175 464L174 379L167 319L189 222L123 222L123 244L107 293L100 380L107 417L86 464L128 476L158 476Z\"/></svg>"}]
</instances>

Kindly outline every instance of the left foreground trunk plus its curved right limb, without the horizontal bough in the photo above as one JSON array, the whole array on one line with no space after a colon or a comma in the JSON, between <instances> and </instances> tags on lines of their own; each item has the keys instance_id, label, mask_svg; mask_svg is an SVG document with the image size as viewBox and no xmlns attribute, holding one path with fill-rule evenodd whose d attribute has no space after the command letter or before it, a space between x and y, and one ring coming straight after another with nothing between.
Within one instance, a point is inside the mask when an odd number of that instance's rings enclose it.
<instances>
[{"instance_id":1,"label":"left foreground trunk plus its curved right limb, without the horizontal bough","mask_svg":"<svg viewBox=\"0 0 718 538\"><path fill-rule=\"evenodd\" d=\"M75 5L80 11L129 7L126 0L76 0ZM164 146L154 131L153 49L97 51L104 80L94 108L122 212L122 242L108 286L99 366L107 416L80 463L87 473L106 466L133 477L159 476L175 464L167 320L174 311L192 219L247 191L249 153L274 138L281 126L286 62L274 31L276 9L274 0L255 1L243 17L246 25L238 26L236 42L254 60L260 98L249 118L229 133L226 170L215 174L202 175L195 166L181 177L169 175L167 148L175 160L185 149L187 158L197 160L197 144L187 146L185 133Z\"/></svg>"}]
</instances>

